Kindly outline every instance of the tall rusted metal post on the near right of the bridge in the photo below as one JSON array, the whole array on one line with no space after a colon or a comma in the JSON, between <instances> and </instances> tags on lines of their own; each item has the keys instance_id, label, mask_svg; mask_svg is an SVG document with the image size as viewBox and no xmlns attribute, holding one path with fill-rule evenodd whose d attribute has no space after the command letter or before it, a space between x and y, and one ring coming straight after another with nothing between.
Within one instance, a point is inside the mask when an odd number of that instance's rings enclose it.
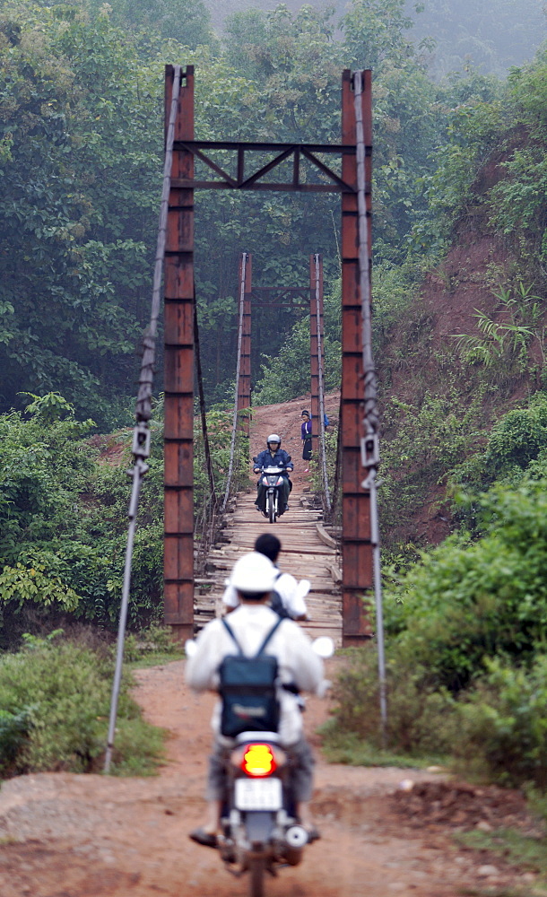
<instances>
[{"instance_id":1,"label":"tall rusted metal post on the near right of the bridge","mask_svg":"<svg viewBox=\"0 0 547 897\"><path fill-rule=\"evenodd\" d=\"M371 210L372 104L371 73L363 72L362 112L366 144L366 204ZM343 72L342 143L356 143L352 73ZM342 178L357 187L357 161L343 155ZM370 233L370 231L369 231ZM369 237L369 257L371 253ZM369 272L370 276L370 272ZM372 634L365 603L373 587L370 538L370 492L362 486L360 437L362 430L363 361L362 310L359 285L359 237L356 194L342 195L342 557L343 646L360 645ZM363 600L365 599L365 600Z\"/></svg>"}]
</instances>

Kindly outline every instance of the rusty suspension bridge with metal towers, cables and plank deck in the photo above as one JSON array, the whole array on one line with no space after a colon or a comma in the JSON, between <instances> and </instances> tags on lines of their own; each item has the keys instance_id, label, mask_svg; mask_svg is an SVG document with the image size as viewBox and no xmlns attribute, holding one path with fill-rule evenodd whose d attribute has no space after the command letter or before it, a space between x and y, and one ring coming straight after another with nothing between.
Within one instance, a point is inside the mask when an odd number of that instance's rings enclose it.
<instances>
[{"instance_id":1,"label":"rusty suspension bridge with metal towers, cables and plank deck","mask_svg":"<svg viewBox=\"0 0 547 897\"><path fill-rule=\"evenodd\" d=\"M219 582L208 581L195 558L215 559L226 570L239 551L252 546L256 519L247 516L247 499L228 515L231 549L213 547L218 524L233 498L234 458L248 440L250 425L250 321L260 300L270 304L309 301L311 411L316 422L317 462L321 478L322 509L326 524L340 519L338 545L326 545L318 536L317 513L291 512L295 531L294 552L307 555L305 567L318 569L316 554L330 552L330 566L340 575L321 581L325 606L337 610L331 629L343 645L360 644L371 635L369 613L363 602L374 588L378 555L376 482L378 468L378 414L376 376L370 349L370 214L371 214L371 79L370 72L344 71L342 76L341 142L339 144L269 144L195 139L194 68L169 65L165 73L165 167L161 215L154 269L151 325L143 341L143 363L136 406L133 451L134 489L129 512L130 535L135 528L138 493L150 436L152 375L161 298L164 309L165 388L165 538L164 620L176 638L194 635L196 624L214 613L205 593L218 592ZM223 487L214 482L208 448L204 390L199 357L194 279L195 192L205 189L282 190L294 193L336 192L341 196L342 266L342 388L338 462L335 483L329 483L325 453L325 392L323 372L323 269L318 254L309 258L309 290L254 288L252 258L245 252L239 262L239 335L234 396L230 467ZM308 296L305 293L308 292ZM162 294L162 295L161 295ZM200 509L204 526L195 540L193 501L195 382L201 408L205 466L210 500ZM340 488L338 488L340 487ZM341 497L338 498L340 493ZM205 535L208 534L208 535ZM287 541L287 540L285 540ZM195 544L196 543L196 544ZM199 544L198 544L199 543ZM339 552L336 553L336 547ZM195 549L199 549L196 555ZM328 550L328 552L327 552ZM292 561L297 562L296 556ZM311 563L310 563L311 562ZM202 565L203 567L203 565ZM130 562L129 562L130 568ZM292 570L298 574L296 568ZM338 581L334 581L338 579ZM197 581L196 581L197 580ZM327 588L327 585L330 588ZM126 584L128 590L128 581ZM326 619L320 619L325 626ZM334 620L336 621L334 623Z\"/></svg>"}]
</instances>

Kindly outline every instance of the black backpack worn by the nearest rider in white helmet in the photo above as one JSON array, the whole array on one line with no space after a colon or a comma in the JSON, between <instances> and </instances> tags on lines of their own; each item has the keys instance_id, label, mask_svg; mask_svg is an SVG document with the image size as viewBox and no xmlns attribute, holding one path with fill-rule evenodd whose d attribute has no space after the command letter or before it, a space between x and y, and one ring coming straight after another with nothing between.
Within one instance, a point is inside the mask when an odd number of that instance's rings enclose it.
<instances>
[{"instance_id":1,"label":"black backpack worn by the nearest rider in white helmet","mask_svg":"<svg viewBox=\"0 0 547 897\"><path fill-rule=\"evenodd\" d=\"M222 623L234 640L239 654L225 657L219 666L221 735L235 738L247 731L277 732L280 712L276 691L277 658L264 654L264 649L282 619L268 632L254 658L245 656L224 618Z\"/></svg>"}]
</instances>

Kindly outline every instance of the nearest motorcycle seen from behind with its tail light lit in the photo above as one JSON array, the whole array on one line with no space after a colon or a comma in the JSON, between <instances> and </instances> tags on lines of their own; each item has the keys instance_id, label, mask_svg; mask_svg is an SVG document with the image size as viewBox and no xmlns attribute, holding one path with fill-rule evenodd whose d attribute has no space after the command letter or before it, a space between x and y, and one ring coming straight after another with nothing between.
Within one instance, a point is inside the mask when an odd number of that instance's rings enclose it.
<instances>
[{"instance_id":1,"label":"nearest motorcycle seen from behind with its tail light lit","mask_svg":"<svg viewBox=\"0 0 547 897\"><path fill-rule=\"evenodd\" d=\"M313 643L316 653L331 657L333 640ZM192 643L186 645L191 654ZM325 683L327 688L329 683ZM224 754L226 797L217 849L232 875L248 873L248 897L264 897L265 875L298 866L308 832L295 814L291 794L291 758L275 732L243 732Z\"/></svg>"}]
</instances>

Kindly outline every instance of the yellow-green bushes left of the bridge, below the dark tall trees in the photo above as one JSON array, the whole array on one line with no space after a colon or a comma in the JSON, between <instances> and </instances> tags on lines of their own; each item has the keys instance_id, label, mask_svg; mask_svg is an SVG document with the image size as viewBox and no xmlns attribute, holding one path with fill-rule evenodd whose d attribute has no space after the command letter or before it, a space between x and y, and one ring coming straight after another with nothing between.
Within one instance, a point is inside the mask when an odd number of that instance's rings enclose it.
<instances>
[{"instance_id":1,"label":"yellow-green bushes left of the bridge, below the dark tall trees","mask_svg":"<svg viewBox=\"0 0 547 897\"><path fill-rule=\"evenodd\" d=\"M121 601L127 542L132 432L110 438L102 457L82 440L62 396L34 396L23 414L0 415L0 622L2 644L16 643L30 606L38 619L52 611L113 628ZM57 413L64 420L51 420ZM135 533L128 622L141 629L158 620L163 592L162 405L151 422L151 457L143 479ZM207 414L217 498L230 462L232 414ZM195 420L195 538L211 500L201 422ZM109 448L114 450L111 463ZM248 445L239 439L234 486L248 483Z\"/></svg>"}]
</instances>

